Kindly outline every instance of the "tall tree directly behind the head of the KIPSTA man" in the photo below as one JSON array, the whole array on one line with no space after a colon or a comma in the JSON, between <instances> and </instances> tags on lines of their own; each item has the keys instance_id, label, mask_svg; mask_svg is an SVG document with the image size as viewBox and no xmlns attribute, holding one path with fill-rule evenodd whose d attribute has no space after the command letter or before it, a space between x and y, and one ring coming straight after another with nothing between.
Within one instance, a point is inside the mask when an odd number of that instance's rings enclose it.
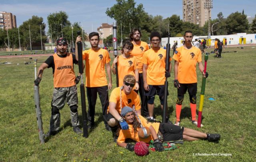
<instances>
[{"instance_id":1,"label":"tall tree directly behind the head of the KIPSTA man","mask_svg":"<svg viewBox=\"0 0 256 162\"><path fill-rule=\"evenodd\" d=\"M70 27L71 23L68 21L68 14L60 11L47 16L48 21L48 35L52 34L52 41L54 42L58 37L62 37L65 27ZM52 30L51 30L52 29ZM70 28L71 29L71 28ZM63 35L64 37L64 35Z\"/></svg>"}]
</instances>

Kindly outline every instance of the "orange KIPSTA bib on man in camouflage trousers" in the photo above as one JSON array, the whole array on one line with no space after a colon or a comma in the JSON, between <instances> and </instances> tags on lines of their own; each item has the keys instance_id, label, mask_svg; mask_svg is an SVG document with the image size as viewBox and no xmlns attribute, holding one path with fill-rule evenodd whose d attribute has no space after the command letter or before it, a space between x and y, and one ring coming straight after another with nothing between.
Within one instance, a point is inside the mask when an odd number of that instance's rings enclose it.
<instances>
[{"instance_id":1,"label":"orange KIPSTA bib on man in camouflage trousers","mask_svg":"<svg viewBox=\"0 0 256 162\"><path fill-rule=\"evenodd\" d=\"M72 55L67 53L66 57L58 57L58 54L54 53L53 59L55 64L53 76L54 88L76 85L76 75L74 72Z\"/></svg>"}]
</instances>

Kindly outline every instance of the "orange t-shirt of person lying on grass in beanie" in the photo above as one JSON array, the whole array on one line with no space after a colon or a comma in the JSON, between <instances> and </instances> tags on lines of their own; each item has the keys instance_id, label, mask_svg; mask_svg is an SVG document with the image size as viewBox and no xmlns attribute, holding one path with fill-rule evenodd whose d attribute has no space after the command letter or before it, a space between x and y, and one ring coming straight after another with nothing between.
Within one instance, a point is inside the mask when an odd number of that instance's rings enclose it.
<instances>
[{"instance_id":1,"label":"orange t-shirt of person lying on grass in beanie","mask_svg":"<svg viewBox=\"0 0 256 162\"><path fill-rule=\"evenodd\" d=\"M152 125L152 127L156 130L156 133L158 133L158 130L159 130L159 126L160 126L160 123L148 123L148 121L142 117L141 115L138 115L139 118L140 118L140 121L141 121L141 124L143 127L150 127L150 125ZM154 140L152 135L150 135L148 138L146 139L143 139L143 138L140 138L138 136L138 128L137 128L137 132L135 133L134 132L134 129L133 129L133 126L132 124L128 124L129 125L129 129L127 130L120 130L119 132L119 136L118 136L118 139L117 139L117 142L118 143L122 143L125 141L125 139L132 139L134 141L143 141L143 142L146 142L146 143L149 143L151 140Z\"/></svg>"}]
</instances>

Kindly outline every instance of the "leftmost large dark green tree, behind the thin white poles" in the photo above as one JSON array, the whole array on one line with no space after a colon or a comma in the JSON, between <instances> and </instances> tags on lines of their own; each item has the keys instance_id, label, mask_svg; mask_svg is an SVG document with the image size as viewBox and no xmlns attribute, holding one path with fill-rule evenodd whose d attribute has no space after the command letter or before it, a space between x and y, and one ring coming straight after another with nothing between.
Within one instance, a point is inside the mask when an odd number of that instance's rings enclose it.
<instances>
[{"instance_id":1,"label":"leftmost large dark green tree, behind the thin white poles","mask_svg":"<svg viewBox=\"0 0 256 162\"><path fill-rule=\"evenodd\" d=\"M41 25L41 33L42 33L42 43L45 43L47 37L45 35L45 23L43 23L43 18L38 16L32 16L31 19L24 21L22 25L20 25L20 37L22 40L21 45L26 47L26 49L30 49L30 36L31 36L31 44L32 46L38 46L41 49L41 35L40 35L40 25ZM30 26L30 32L29 32Z\"/></svg>"}]
</instances>

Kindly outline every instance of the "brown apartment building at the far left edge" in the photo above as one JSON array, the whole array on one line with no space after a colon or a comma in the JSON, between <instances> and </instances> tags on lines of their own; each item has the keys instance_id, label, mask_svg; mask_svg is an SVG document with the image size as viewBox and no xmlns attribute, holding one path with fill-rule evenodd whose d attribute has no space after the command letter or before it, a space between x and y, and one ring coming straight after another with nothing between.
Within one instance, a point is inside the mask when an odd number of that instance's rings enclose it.
<instances>
[{"instance_id":1,"label":"brown apartment building at the far left edge","mask_svg":"<svg viewBox=\"0 0 256 162\"><path fill-rule=\"evenodd\" d=\"M0 12L0 28L12 29L16 28L16 16L8 12Z\"/></svg>"}]
</instances>

